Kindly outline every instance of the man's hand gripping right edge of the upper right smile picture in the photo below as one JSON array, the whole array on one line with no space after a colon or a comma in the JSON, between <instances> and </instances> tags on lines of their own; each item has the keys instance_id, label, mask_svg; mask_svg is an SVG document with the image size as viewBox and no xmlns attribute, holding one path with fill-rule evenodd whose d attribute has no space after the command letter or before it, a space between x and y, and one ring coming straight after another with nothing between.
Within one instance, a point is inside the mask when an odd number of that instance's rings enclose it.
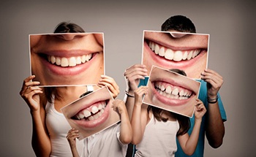
<instances>
[{"instance_id":1,"label":"man's hand gripping right edge of the upper right smile picture","mask_svg":"<svg viewBox=\"0 0 256 157\"><path fill-rule=\"evenodd\" d=\"M201 75L202 80L206 81L207 83L208 98L216 98L217 93L219 92L219 88L221 88L223 84L222 76L211 69L205 69L204 72L201 73Z\"/></svg>"}]
</instances>

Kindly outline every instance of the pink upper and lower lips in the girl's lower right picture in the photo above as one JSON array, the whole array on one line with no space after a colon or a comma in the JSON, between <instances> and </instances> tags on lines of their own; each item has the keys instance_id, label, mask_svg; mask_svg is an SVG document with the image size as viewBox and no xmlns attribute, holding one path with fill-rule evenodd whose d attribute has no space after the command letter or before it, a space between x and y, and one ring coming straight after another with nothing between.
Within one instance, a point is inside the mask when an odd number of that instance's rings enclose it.
<instances>
[{"instance_id":1,"label":"pink upper and lower lips in the girl's lower right picture","mask_svg":"<svg viewBox=\"0 0 256 157\"><path fill-rule=\"evenodd\" d=\"M154 93L154 95L156 96L156 98L159 100L159 102L162 102L163 104L166 104L168 106L181 106L183 104L187 104L187 102L190 101L190 99L192 99L192 97L195 96L195 93L192 94L192 96L190 96L189 99L171 99L171 98L167 98L165 96L162 96L161 94L159 94L157 92L157 90L154 88L154 82L156 81L160 81L160 80L154 80L151 82L151 89ZM165 83L169 83L169 84L172 84L172 85L176 85L176 83L174 83L173 81L164 81L164 80L161 80L162 82L165 82ZM181 85L176 85L176 86L181 86Z\"/></svg>"}]
</instances>

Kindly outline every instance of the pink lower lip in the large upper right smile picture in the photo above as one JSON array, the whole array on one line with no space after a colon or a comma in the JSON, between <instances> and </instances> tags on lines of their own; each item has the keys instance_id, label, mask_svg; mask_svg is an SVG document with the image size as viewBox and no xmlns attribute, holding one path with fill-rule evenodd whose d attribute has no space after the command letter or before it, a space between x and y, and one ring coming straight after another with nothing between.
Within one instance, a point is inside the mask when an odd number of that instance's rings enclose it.
<instances>
[{"instance_id":1,"label":"pink lower lip in the large upper right smile picture","mask_svg":"<svg viewBox=\"0 0 256 157\"><path fill-rule=\"evenodd\" d=\"M166 69L176 68L176 69L185 69L191 66L192 64L195 64L200 58L202 58L203 54L206 53L206 50L202 50L195 58L190 59L189 61L171 61L167 60L164 57L161 57L159 55L156 55L150 47L148 47L148 44L146 41L144 41L144 48L146 49L146 52L150 52L149 55L151 55L151 58L153 58L154 61L157 62L157 64L165 66Z\"/></svg>"}]
</instances>

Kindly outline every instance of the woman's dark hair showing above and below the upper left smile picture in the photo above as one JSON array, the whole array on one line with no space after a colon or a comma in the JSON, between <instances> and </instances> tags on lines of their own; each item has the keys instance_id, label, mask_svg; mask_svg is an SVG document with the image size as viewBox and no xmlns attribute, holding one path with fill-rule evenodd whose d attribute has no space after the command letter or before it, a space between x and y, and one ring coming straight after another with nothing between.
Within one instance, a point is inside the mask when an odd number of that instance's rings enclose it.
<instances>
[{"instance_id":1,"label":"woman's dark hair showing above and below the upper left smile picture","mask_svg":"<svg viewBox=\"0 0 256 157\"><path fill-rule=\"evenodd\" d=\"M61 22L59 23L53 33L84 33L86 31L83 30L80 26L75 23ZM53 95L56 99L61 99L56 87L47 87L44 90L45 97L48 102L52 103Z\"/></svg>"}]
</instances>

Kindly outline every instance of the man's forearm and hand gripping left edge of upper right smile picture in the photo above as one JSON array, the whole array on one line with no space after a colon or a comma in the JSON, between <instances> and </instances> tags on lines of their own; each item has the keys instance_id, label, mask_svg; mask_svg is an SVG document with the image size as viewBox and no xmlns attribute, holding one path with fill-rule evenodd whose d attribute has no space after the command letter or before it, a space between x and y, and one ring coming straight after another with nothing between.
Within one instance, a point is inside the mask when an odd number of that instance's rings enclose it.
<instances>
[{"instance_id":1,"label":"man's forearm and hand gripping left edge of upper right smile picture","mask_svg":"<svg viewBox=\"0 0 256 157\"><path fill-rule=\"evenodd\" d=\"M135 104L135 90L138 88L140 79L145 79L145 76L147 75L146 66L142 64L135 64L124 72L124 76L127 79L127 93L129 95L124 98L124 101L130 119L132 118L133 106Z\"/></svg>"}]
</instances>

